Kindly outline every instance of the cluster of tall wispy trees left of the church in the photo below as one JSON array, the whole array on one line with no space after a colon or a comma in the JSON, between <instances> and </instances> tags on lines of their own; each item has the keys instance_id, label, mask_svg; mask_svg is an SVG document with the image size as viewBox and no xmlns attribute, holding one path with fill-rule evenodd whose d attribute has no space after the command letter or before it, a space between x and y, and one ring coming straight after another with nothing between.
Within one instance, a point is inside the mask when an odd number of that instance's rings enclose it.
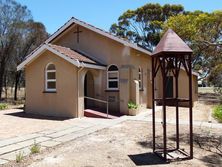
<instances>
[{"instance_id":1,"label":"cluster of tall wispy trees left of the church","mask_svg":"<svg viewBox=\"0 0 222 167\"><path fill-rule=\"evenodd\" d=\"M14 0L0 0L0 100L3 86L15 87L14 99L22 72L16 71L33 49L39 46L48 34L42 23L32 19L31 12Z\"/></svg>"}]
</instances>

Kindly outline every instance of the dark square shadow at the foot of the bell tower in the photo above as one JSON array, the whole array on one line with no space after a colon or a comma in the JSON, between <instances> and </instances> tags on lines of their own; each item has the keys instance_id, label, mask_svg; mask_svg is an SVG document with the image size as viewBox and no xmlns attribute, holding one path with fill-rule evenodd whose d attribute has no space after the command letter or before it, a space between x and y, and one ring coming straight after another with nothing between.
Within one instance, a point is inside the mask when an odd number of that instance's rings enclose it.
<instances>
[{"instance_id":1,"label":"dark square shadow at the foot of the bell tower","mask_svg":"<svg viewBox=\"0 0 222 167\"><path fill-rule=\"evenodd\" d=\"M128 155L136 166L167 164L154 153Z\"/></svg>"}]
</instances>

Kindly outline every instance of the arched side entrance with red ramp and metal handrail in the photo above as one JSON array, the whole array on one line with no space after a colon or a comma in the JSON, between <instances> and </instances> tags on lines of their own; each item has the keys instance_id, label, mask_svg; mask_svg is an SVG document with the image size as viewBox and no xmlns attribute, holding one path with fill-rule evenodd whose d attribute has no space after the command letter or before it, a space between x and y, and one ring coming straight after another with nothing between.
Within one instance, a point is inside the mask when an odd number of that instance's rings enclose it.
<instances>
[{"instance_id":1,"label":"arched side entrance with red ramp and metal handrail","mask_svg":"<svg viewBox=\"0 0 222 167\"><path fill-rule=\"evenodd\" d=\"M108 94L104 88L104 70L79 69L78 71L78 116L96 118L116 118L119 111L112 110ZM115 116L114 116L115 115Z\"/></svg>"}]
</instances>

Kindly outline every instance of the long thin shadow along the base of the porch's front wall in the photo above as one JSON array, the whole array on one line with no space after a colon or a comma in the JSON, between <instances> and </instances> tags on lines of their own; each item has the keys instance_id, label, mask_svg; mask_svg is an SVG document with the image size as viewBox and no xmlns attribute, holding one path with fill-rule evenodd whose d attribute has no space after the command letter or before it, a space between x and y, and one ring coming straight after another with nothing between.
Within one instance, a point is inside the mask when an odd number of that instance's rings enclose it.
<instances>
[{"instance_id":1,"label":"long thin shadow along the base of the porch's front wall","mask_svg":"<svg viewBox=\"0 0 222 167\"><path fill-rule=\"evenodd\" d=\"M24 111L22 112L14 112L14 113L7 113L5 115L20 117L20 118L30 118L30 119L42 119L42 120L52 120L52 121L65 121L71 118L61 118L61 117L51 117L51 116L42 116L36 114L29 114Z\"/></svg>"}]
</instances>

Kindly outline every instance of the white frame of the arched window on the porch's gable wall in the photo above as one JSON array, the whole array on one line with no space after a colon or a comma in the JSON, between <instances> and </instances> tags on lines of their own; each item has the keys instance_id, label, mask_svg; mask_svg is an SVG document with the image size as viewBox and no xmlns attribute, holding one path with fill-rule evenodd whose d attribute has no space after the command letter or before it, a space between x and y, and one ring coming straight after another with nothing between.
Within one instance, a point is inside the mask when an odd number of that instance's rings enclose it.
<instances>
[{"instance_id":1,"label":"white frame of the arched window on the porch's gable wall","mask_svg":"<svg viewBox=\"0 0 222 167\"><path fill-rule=\"evenodd\" d=\"M48 67L53 65L55 70L48 70ZM55 73L55 79L48 79L48 73ZM55 82L55 88L48 88L49 82ZM45 68L45 91L47 92L56 92L56 66L54 63L48 63Z\"/></svg>"}]
</instances>

